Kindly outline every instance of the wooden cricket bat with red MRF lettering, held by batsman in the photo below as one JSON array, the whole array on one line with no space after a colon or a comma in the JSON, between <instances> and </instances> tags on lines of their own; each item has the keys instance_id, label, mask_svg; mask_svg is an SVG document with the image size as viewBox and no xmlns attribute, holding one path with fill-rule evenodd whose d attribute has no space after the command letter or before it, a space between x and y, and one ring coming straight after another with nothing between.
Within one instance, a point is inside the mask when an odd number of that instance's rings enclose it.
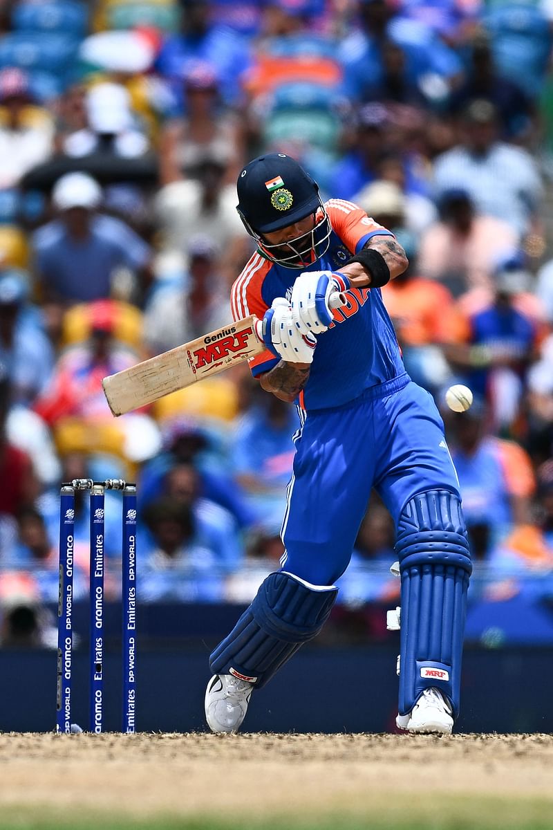
<instances>
[{"instance_id":1,"label":"wooden cricket bat with red MRF lettering, held by batsman","mask_svg":"<svg viewBox=\"0 0 553 830\"><path fill-rule=\"evenodd\" d=\"M346 296L336 291L331 295L329 305L339 308L346 302ZM218 374L233 364L254 358L267 348L261 326L261 320L250 315L122 372L110 374L102 381L109 408L115 416L124 415Z\"/></svg>"}]
</instances>

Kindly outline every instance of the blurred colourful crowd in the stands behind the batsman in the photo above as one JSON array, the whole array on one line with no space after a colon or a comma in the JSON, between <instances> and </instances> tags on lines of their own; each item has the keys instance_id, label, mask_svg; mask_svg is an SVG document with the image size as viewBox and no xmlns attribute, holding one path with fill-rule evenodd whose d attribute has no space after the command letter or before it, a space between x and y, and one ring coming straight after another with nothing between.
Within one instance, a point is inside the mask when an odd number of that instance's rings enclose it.
<instances>
[{"instance_id":1,"label":"blurred colourful crowd in the stands behind the batsman","mask_svg":"<svg viewBox=\"0 0 553 830\"><path fill-rule=\"evenodd\" d=\"M100 384L230 320L235 178L265 150L395 232L410 266L383 295L473 556L502 595L551 573L552 45L551 0L3 0L0 603L56 600L76 477L138 482L145 600L248 601L278 566L294 408L245 366L118 419ZM116 596L116 495L106 521ZM374 498L344 599L397 593L393 545Z\"/></svg>"}]
</instances>

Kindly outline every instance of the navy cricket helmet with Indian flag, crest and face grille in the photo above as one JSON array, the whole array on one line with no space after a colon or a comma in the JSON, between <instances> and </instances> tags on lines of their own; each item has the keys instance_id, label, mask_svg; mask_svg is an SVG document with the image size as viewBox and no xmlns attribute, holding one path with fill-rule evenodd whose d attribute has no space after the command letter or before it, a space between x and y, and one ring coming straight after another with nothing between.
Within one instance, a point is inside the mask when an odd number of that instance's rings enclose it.
<instances>
[{"instance_id":1,"label":"navy cricket helmet with Indian flag, crest and face grille","mask_svg":"<svg viewBox=\"0 0 553 830\"><path fill-rule=\"evenodd\" d=\"M266 259L287 268L305 268L327 251L331 227L318 184L295 159L284 153L259 156L242 170L236 188L236 210ZM313 216L308 232L278 245L264 239L265 233L308 216Z\"/></svg>"}]
</instances>

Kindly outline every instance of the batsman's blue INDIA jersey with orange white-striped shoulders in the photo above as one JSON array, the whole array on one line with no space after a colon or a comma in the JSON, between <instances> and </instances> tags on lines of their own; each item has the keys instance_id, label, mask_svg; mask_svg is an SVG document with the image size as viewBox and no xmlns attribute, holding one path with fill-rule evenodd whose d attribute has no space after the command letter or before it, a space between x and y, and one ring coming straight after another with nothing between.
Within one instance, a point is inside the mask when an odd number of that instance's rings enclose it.
<instances>
[{"instance_id":1,"label":"batsman's blue INDIA jersey with orange white-striped shoulders","mask_svg":"<svg viewBox=\"0 0 553 830\"><path fill-rule=\"evenodd\" d=\"M330 199L325 207L332 227L330 245L304 271L336 271L372 236L392 236L352 202ZM297 269L255 253L232 286L234 319L250 314L262 318L276 297L290 297L297 277ZM405 372L380 288L350 289L347 305L334 310L333 317L328 330L318 335L308 382L297 402L307 410L340 406ZM250 369L258 376L278 363L267 349L250 361Z\"/></svg>"}]
</instances>

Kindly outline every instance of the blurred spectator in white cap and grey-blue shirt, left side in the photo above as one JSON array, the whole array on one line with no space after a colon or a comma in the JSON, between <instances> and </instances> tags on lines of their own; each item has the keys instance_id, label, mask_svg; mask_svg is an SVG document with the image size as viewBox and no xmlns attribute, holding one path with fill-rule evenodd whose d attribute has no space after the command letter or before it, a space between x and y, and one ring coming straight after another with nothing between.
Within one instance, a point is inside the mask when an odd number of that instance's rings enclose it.
<instances>
[{"instance_id":1,"label":"blurred spectator in white cap and grey-blue shirt, left side","mask_svg":"<svg viewBox=\"0 0 553 830\"><path fill-rule=\"evenodd\" d=\"M36 279L46 303L63 309L109 297L117 269L144 286L150 250L124 222L98 212L102 191L85 173L67 173L52 192L56 218L33 237Z\"/></svg>"}]
</instances>

